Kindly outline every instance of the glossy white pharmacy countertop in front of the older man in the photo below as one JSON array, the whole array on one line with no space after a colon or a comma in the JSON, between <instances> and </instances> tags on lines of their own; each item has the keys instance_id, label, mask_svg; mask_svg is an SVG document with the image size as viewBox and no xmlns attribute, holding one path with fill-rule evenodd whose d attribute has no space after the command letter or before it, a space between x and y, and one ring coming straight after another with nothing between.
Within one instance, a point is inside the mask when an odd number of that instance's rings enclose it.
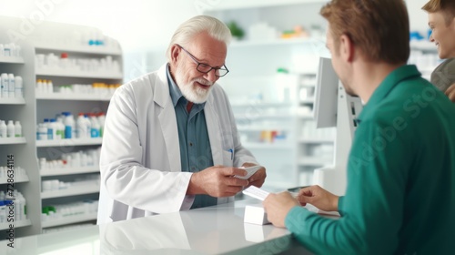
<instances>
[{"instance_id":1,"label":"glossy white pharmacy countertop in front of the older man","mask_svg":"<svg viewBox=\"0 0 455 255\"><path fill-rule=\"evenodd\" d=\"M0 241L1 254L277 254L302 248L286 229L243 222L240 200L147 218ZM6 253L4 253L6 251ZM303 250L305 251L305 250ZM293 253L288 253L293 254Z\"/></svg>"}]
</instances>

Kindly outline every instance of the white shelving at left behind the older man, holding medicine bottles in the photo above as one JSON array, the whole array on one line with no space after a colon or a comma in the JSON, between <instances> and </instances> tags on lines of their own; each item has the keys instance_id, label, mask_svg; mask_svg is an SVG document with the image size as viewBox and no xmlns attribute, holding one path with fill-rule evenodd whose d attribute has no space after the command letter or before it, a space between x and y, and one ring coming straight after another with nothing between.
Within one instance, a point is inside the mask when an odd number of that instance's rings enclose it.
<instances>
[{"instance_id":1,"label":"white shelving at left behind the older man, holding medicine bottles","mask_svg":"<svg viewBox=\"0 0 455 255\"><path fill-rule=\"evenodd\" d=\"M20 27L23 20L18 18L0 17L0 43L9 43L6 31L11 27ZM60 56L66 53L68 58L106 58L111 56L118 66L123 66L122 50L115 40L109 38L109 46L83 46L79 41L68 43L68 38L74 33L92 32L100 34L96 28L88 26L74 26L43 22L36 26L33 33L21 40L22 57L0 56L0 72L12 73L23 77L24 99L0 98L0 119L19 120L22 124L23 138L0 138L0 166L5 166L6 155L15 156L15 166L25 168L27 177L15 178L15 189L18 189L26 199L27 220L15 222L15 237L39 234L43 228L63 226L78 222L94 222L96 215L88 214L65 220L41 222L42 208L48 205L65 205L81 200L97 200L99 184L83 185L76 183L68 189L42 192L43 180L58 179L72 182L84 179L86 175L99 174L97 167L83 168L52 168L41 169L37 158L55 160L63 154L86 149L99 148L102 138L36 140L36 125L43 122L43 118L55 117L63 111L70 111L77 116L79 112L95 113L106 112L112 93L98 95L38 94L35 91L36 80L51 79L54 86L71 84L122 84L123 72L99 71L83 72L57 68L38 68L35 66L36 54L50 54ZM49 36L52 35L52 36ZM121 68L121 67L120 67ZM0 179L0 189L6 189L4 179ZM0 224L0 230L9 226ZM5 231L0 233L5 238Z\"/></svg>"}]
</instances>

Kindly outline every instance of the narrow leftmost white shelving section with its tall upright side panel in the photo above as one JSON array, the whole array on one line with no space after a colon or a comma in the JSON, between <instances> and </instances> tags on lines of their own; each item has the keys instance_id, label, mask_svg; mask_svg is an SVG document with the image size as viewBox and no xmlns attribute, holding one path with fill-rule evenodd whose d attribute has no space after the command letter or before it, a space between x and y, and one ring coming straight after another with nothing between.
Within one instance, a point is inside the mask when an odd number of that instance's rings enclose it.
<instances>
[{"instance_id":1,"label":"narrow leftmost white shelving section with its tall upright side panel","mask_svg":"<svg viewBox=\"0 0 455 255\"><path fill-rule=\"evenodd\" d=\"M6 31L12 26L19 27L20 20L0 17L0 43L11 43ZM7 179L0 179L0 190L17 189L26 200L27 219L21 221L0 223L0 239L7 237L9 224L14 225L15 237L41 233L41 201L39 198L40 185L35 160L35 52L27 40L15 42L21 46L21 56L0 56L0 73L22 76L24 98L0 98L0 119L20 121L22 138L0 138L0 166L6 166L8 155L14 156L14 167L25 169L26 176L14 172L14 187L9 186Z\"/></svg>"}]
</instances>

